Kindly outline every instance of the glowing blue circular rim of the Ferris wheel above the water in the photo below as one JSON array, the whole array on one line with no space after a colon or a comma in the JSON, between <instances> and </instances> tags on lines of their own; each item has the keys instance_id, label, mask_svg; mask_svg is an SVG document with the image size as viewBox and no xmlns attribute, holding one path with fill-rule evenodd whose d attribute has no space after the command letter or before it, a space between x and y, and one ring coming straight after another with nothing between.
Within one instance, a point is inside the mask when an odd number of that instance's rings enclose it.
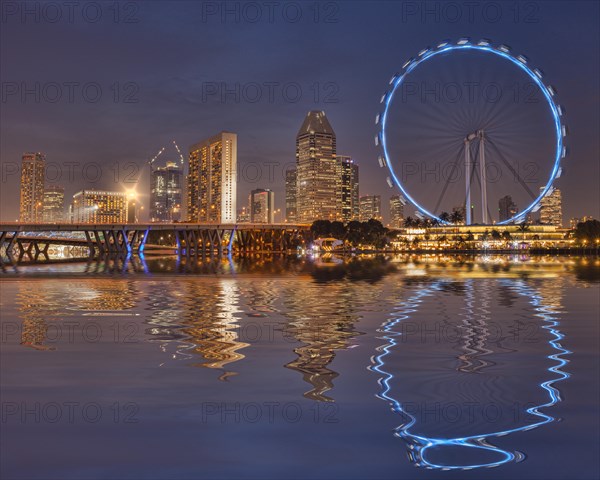
<instances>
[{"instance_id":1,"label":"glowing blue circular rim of the Ferris wheel above the water","mask_svg":"<svg viewBox=\"0 0 600 480\"><path fill-rule=\"evenodd\" d=\"M394 75L390 80L390 85L392 86L391 90L387 91L381 97L381 103L384 105L383 112L377 115L375 123L380 127L379 133L375 137L375 144L380 146L382 149L382 155L379 157L379 165L381 167L387 166L390 176L388 177L388 184L390 187L394 185L400 189L402 193L402 202L406 203L407 201L412 203L417 210L434 220L437 220L440 224L445 224L448 222L444 222L438 216L428 211L422 205L420 205L408 192L402 182L398 179L396 173L394 172L394 167L392 166L392 162L390 161L390 155L388 153L387 140L385 135L385 128L388 116L388 110L391 104L392 99L394 98L394 94L398 87L402 85L404 79L407 75L409 75L415 68L424 63L425 61L439 55L441 53L447 53L452 51L465 51L465 50L474 50L480 51L484 53L489 53L492 55L496 55L505 60L510 61L512 64L519 67L522 71L524 71L533 82L537 85L540 91L544 94L544 98L546 99L546 103L550 108L550 112L552 114L554 120L554 128L556 135L556 145L554 150L554 159L553 159L553 167L550 173L550 177L546 182L545 187L541 190L541 193L538 195L536 199L534 199L526 209L517 213L513 217L498 222L498 225L506 225L509 223L521 223L525 221L527 215L531 211L536 211L536 207L539 206L540 201L546 195L549 195L554 190L553 184L554 181L560 177L562 169L560 166L561 159L566 156L566 148L564 146L563 139L566 136L566 127L561 121L563 111L562 108L557 105L554 101L555 90L552 86L546 85L542 81L542 73L539 69L534 68L531 69L527 64L527 59L523 55L513 56L510 54L510 49L505 45L500 45L498 47L493 47L489 41L481 40L480 42L474 44L471 43L468 39L461 39L456 44L451 44L449 42L442 42L436 48L425 48L419 52L416 58L411 58L407 60L402 66L402 73L398 73Z\"/></svg>"}]
</instances>

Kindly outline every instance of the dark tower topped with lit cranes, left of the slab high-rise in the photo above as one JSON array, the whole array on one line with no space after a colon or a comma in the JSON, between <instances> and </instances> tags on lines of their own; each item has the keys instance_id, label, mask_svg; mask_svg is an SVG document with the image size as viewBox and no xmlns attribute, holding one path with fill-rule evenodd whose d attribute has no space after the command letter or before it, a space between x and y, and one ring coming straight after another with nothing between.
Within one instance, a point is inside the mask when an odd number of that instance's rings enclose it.
<instances>
[{"instance_id":1,"label":"dark tower topped with lit cranes, left of the slab high-rise","mask_svg":"<svg viewBox=\"0 0 600 480\"><path fill-rule=\"evenodd\" d=\"M178 222L181 220L183 171L176 163L152 171L150 180L150 221Z\"/></svg>"}]
</instances>

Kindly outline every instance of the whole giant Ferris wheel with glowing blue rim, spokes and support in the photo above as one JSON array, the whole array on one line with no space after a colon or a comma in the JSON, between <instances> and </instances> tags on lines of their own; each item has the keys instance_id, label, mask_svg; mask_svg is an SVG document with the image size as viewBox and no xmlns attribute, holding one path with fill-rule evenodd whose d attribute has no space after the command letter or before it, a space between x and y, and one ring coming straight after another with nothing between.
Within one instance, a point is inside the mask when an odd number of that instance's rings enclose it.
<instances>
[{"instance_id":1,"label":"whole giant Ferris wheel with glowing blue rim, spokes and support","mask_svg":"<svg viewBox=\"0 0 600 480\"><path fill-rule=\"evenodd\" d=\"M442 80L429 85L434 75ZM470 101L466 95L457 101L457 95L448 93L451 85L455 90L484 85L480 80L486 76L492 81L482 91L487 89L490 97L494 89L489 87L495 84L503 99L497 95L491 102L482 95L478 103L473 88ZM514 78L494 82L499 76ZM509 95L513 84L517 86ZM389 186L400 190L403 204L415 206L417 216L447 224L440 208L462 205L466 225L521 223L553 193L567 153L563 108L555 101L554 87L525 56L488 40L445 41L407 60L389 85L376 117L379 165L388 168ZM428 102L429 97L433 100ZM535 175L524 168L530 164ZM517 197L521 208L495 218L489 201L493 195Z\"/></svg>"}]
</instances>

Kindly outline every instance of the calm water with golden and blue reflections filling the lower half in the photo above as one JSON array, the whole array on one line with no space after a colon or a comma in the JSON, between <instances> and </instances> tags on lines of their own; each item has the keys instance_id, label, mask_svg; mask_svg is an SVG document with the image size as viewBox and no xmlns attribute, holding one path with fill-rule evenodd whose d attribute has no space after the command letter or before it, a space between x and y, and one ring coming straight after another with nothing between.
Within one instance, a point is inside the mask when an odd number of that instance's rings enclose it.
<instances>
[{"instance_id":1,"label":"calm water with golden and blue reflections filling the lower half","mask_svg":"<svg viewBox=\"0 0 600 480\"><path fill-rule=\"evenodd\" d=\"M0 287L3 479L600 474L593 258L162 258Z\"/></svg>"}]
</instances>

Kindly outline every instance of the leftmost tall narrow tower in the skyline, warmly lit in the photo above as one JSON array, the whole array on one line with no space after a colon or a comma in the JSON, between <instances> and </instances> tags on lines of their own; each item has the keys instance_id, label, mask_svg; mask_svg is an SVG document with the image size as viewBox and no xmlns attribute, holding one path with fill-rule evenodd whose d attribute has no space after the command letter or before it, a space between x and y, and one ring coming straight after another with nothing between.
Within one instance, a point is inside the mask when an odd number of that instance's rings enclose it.
<instances>
[{"instance_id":1,"label":"leftmost tall narrow tower in the skyline, warmly lit","mask_svg":"<svg viewBox=\"0 0 600 480\"><path fill-rule=\"evenodd\" d=\"M21 199L19 220L42 222L44 212L44 168L42 153L24 153L21 163Z\"/></svg>"}]
</instances>

